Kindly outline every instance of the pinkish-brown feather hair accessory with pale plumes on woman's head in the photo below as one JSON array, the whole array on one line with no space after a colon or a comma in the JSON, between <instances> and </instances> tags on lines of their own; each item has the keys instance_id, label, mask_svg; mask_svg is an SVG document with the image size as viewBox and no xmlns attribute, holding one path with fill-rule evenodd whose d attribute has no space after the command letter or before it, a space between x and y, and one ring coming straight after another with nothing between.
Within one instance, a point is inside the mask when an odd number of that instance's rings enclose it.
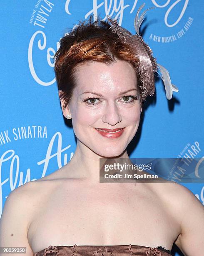
<instances>
[{"instance_id":1,"label":"pinkish-brown feather hair accessory with pale plumes on woman's head","mask_svg":"<svg viewBox=\"0 0 204 256\"><path fill-rule=\"evenodd\" d=\"M107 16L107 20L110 23L112 32L117 33L119 38L124 43L131 46L134 49L137 57L139 58L137 73L140 78L139 86L142 89L142 100L144 101L148 95L154 95L154 73L157 72L158 67L160 69L161 75L158 72L157 74L159 74L159 76L162 78L166 91L166 97L168 100L170 100L172 98L173 91L178 92L179 90L174 84L172 84L168 70L156 62L156 58L153 57L152 49L150 49L150 47L144 42L142 36L139 35L139 27L144 20L144 16L147 10L155 8L151 7L145 10L139 17L139 12L142 10L144 5L145 3L143 3L139 7L139 9L137 10L137 14L134 18L134 28L137 33L136 35L132 35L132 33L130 33L127 29L119 26L117 20L112 20L109 16Z\"/></svg>"}]
</instances>

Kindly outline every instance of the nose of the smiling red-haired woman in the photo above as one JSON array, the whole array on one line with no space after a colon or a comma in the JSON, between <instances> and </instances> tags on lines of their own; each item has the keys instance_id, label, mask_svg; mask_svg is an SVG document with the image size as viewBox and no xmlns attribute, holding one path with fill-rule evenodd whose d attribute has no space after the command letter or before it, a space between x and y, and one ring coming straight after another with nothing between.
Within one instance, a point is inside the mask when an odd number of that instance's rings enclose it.
<instances>
[{"instance_id":1,"label":"nose of the smiling red-haired woman","mask_svg":"<svg viewBox=\"0 0 204 256\"><path fill-rule=\"evenodd\" d=\"M104 123L108 123L109 125L116 125L117 123L121 122L121 120L122 118L117 107L117 103L107 103L104 107L102 121Z\"/></svg>"}]
</instances>

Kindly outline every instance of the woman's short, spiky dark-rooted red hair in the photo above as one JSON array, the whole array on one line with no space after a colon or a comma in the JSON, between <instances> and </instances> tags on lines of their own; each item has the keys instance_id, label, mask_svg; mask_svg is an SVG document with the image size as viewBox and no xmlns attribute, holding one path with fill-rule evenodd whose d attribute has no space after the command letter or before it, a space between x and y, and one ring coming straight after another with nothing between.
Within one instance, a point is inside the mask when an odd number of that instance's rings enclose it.
<instances>
[{"instance_id":1,"label":"woman's short, spiky dark-rooted red hair","mask_svg":"<svg viewBox=\"0 0 204 256\"><path fill-rule=\"evenodd\" d=\"M105 64L117 60L128 61L136 71L139 63L131 46L123 43L113 33L108 22L93 21L93 17L80 22L70 33L60 39L60 48L55 54L55 75L58 90L62 93L64 108L69 104L76 86L75 71L85 61L100 61ZM137 76L138 86L139 77ZM141 96L141 89L139 88ZM140 97L142 99L142 97Z\"/></svg>"}]
</instances>

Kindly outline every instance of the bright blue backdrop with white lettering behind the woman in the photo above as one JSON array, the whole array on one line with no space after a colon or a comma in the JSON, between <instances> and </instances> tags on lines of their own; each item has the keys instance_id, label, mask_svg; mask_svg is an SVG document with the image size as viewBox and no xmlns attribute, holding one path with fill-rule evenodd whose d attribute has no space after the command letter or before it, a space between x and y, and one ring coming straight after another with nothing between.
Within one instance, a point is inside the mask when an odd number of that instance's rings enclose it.
<instances>
[{"instance_id":1,"label":"bright blue backdrop with white lettering behind the woman","mask_svg":"<svg viewBox=\"0 0 204 256\"><path fill-rule=\"evenodd\" d=\"M0 215L15 187L59 169L75 151L53 71L60 38L91 14L116 17L135 33L133 20L142 3L143 10L156 8L147 12L140 33L179 92L168 101L161 79L156 81L130 157L204 156L202 0L2 0ZM204 184L184 185L204 204Z\"/></svg>"}]
</instances>

